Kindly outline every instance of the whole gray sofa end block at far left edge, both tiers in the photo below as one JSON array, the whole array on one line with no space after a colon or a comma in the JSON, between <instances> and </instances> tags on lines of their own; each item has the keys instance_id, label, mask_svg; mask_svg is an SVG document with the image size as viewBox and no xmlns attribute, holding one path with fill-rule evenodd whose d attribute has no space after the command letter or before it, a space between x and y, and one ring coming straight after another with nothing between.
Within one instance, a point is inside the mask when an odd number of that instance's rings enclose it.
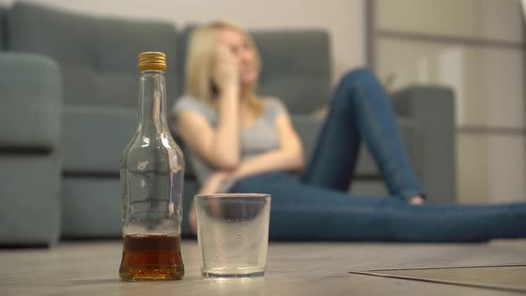
<instances>
[{"instance_id":1,"label":"whole gray sofa end block at far left edge, both tiers","mask_svg":"<svg viewBox=\"0 0 526 296\"><path fill-rule=\"evenodd\" d=\"M62 84L50 58L0 54L0 244L54 243L60 229Z\"/></svg>"}]
</instances>

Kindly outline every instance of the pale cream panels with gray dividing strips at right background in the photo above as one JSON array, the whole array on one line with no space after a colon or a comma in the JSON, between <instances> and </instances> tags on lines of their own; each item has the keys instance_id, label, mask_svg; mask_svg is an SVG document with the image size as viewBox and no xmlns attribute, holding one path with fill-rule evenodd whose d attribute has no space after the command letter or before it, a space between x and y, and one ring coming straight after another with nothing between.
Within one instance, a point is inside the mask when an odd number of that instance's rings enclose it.
<instances>
[{"instance_id":1,"label":"pale cream panels with gray dividing strips at right background","mask_svg":"<svg viewBox=\"0 0 526 296\"><path fill-rule=\"evenodd\" d=\"M519 1L377 0L376 7L384 30L523 42ZM525 201L526 137L465 128L526 128L522 48L395 38L377 46L379 76L396 75L393 88L426 79L453 86L456 124L464 127L456 138L459 201Z\"/></svg>"}]
</instances>

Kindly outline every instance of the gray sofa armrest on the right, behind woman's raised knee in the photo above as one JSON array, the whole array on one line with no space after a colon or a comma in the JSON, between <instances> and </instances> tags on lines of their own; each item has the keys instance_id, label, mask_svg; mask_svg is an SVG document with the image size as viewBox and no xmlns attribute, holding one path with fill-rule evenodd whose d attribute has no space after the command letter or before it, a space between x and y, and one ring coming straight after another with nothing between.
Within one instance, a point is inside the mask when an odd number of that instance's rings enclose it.
<instances>
[{"instance_id":1,"label":"gray sofa armrest on the right, behind woman's raised knee","mask_svg":"<svg viewBox=\"0 0 526 296\"><path fill-rule=\"evenodd\" d=\"M444 86L408 86L391 94L397 115L411 119L422 143L416 171L429 201L456 201L456 125L453 91ZM413 159L412 159L413 160Z\"/></svg>"}]
</instances>

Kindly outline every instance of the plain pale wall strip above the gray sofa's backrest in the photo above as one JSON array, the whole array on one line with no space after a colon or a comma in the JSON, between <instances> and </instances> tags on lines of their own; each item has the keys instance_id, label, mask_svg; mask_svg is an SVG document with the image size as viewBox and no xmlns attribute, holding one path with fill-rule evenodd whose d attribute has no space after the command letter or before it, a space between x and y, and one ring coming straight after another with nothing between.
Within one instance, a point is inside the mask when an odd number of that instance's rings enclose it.
<instances>
[{"instance_id":1,"label":"plain pale wall strip above the gray sofa's backrest","mask_svg":"<svg viewBox=\"0 0 526 296\"><path fill-rule=\"evenodd\" d=\"M16 0L0 0L10 5ZM332 37L333 73L365 64L366 0L33 0L75 12L170 21L228 18L249 29L322 28Z\"/></svg>"}]
</instances>

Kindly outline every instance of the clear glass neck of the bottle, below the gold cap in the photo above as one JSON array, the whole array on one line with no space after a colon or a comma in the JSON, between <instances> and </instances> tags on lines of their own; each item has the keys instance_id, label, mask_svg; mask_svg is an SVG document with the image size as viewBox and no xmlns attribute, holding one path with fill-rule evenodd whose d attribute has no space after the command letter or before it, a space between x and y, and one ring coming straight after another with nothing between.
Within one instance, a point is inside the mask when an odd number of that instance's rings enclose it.
<instances>
[{"instance_id":1,"label":"clear glass neck of the bottle, below the gold cap","mask_svg":"<svg viewBox=\"0 0 526 296\"><path fill-rule=\"evenodd\" d=\"M141 71L139 107L139 131L142 135L168 131L164 71Z\"/></svg>"}]
</instances>

